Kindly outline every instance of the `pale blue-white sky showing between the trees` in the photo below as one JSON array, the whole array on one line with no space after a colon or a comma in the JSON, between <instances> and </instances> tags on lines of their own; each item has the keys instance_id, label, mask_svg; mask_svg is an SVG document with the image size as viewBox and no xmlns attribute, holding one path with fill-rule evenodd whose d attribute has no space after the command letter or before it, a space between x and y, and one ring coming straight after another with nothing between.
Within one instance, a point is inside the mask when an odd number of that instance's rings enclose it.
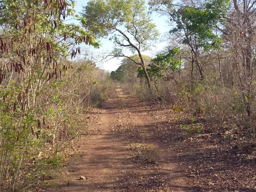
<instances>
[{"instance_id":1,"label":"pale blue-white sky showing between the trees","mask_svg":"<svg viewBox=\"0 0 256 192\"><path fill-rule=\"evenodd\" d=\"M83 9L82 6L85 6L88 1L89 0L76 0L76 7L75 7L76 14L79 14L80 12L82 12L82 9ZM153 19L152 22L157 26L157 30L159 31L160 36L170 30L170 27L166 22L166 20L168 19L167 17L160 16L157 13L153 13L152 19ZM74 20L71 22L74 22L75 24L79 24L77 21L74 21ZM114 44L108 39L109 38L98 39L102 44L102 47L100 47L99 49L94 49L93 47L89 47L89 50L93 54L93 58L97 61L96 65L101 69L111 72L116 70L119 67L122 58L113 58L113 59L107 58L102 60L108 55L109 52L111 52L111 50L113 50L113 47L115 47ZM154 45L154 47L151 48L152 50L147 50L146 52L142 52L142 54L154 57L157 52L161 51L166 46L166 44L167 44L166 41L160 42L159 40ZM91 57L92 54L89 54L88 57ZM130 51L126 51L125 54L127 54L128 56L133 55Z\"/></svg>"}]
</instances>

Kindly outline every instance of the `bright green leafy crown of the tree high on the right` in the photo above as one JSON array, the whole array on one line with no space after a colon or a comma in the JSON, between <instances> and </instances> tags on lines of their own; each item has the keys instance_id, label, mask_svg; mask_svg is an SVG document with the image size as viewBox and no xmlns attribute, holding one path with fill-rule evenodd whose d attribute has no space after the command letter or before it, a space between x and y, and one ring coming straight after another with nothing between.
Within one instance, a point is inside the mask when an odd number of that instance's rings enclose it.
<instances>
[{"instance_id":1,"label":"bright green leafy crown of the tree high on the right","mask_svg":"<svg viewBox=\"0 0 256 192\"><path fill-rule=\"evenodd\" d=\"M210 49L220 49L223 40L216 35L214 30L217 24L225 23L229 0L211 0L200 7L185 6L174 9L173 19L177 23L177 27L170 31L176 33L179 30L186 30L186 36L194 36L199 47L203 47L206 51ZM184 39L183 43L188 44L188 39Z\"/></svg>"}]
</instances>

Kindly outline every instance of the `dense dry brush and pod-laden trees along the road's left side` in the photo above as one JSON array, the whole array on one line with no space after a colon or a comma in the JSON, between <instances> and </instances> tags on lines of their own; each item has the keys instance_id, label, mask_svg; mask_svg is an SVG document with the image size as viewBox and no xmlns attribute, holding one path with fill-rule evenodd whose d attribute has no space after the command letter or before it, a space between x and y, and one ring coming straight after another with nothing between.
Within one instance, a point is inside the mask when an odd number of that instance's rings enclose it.
<instances>
[{"instance_id":1,"label":"dense dry brush and pod-laden trees along the road's left side","mask_svg":"<svg viewBox=\"0 0 256 192\"><path fill-rule=\"evenodd\" d=\"M63 22L76 17L72 6L0 1L0 191L29 191L62 165L70 141L88 131L86 111L111 91L105 71L71 60L81 44L99 46Z\"/></svg>"}]
</instances>

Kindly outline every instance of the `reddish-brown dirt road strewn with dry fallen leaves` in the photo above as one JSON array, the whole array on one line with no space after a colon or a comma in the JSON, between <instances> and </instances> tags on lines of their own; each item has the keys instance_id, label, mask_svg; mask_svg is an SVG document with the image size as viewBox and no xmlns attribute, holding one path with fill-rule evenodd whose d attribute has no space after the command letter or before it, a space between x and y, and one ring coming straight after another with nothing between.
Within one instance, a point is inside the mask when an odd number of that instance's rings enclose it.
<instances>
[{"instance_id":1,"label":"reddish-brown dirt road strewn with dry fallen leaves","mask_svg":"<svg viewBox=\"0 0 256 192\"><path fill-rule=\"evenodd\" d=\"M199 145L198 142L206 141L200 140L200 135L196 135L199 139L193 143L186 139L185 132L177 133L180 117L175 119L172 110L146 106L120 88L116 92L117 98L109 99L92 112L101 114L92 134L79 139L77 156L46 191L235 191L236 187L230 186L240 185L234 179L222 180L229 177L223 173L226 168L213 172L214 162L205 158L211 151L199 153L215 144L209 141ZM198 153L193 152L195 149ZM237 188L254 191L253 183L242 186Z\"/></svg>"}]
</instances>

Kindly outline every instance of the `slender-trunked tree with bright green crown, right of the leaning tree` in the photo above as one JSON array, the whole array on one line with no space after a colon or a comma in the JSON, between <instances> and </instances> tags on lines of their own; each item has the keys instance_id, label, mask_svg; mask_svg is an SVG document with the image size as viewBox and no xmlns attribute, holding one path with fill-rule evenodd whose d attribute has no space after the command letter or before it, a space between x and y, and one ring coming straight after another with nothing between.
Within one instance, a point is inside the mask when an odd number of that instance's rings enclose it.
<instances>
[{"instance_id":1,"label":"slender-trunked tree with bright green crown, right of the leaning tree","mask_svg":"<svg viewBox=\"0 0 256 192\"><path fill-rule=\"evenodd\" d=\"M187 3L187 2L186 2ZM229 0L211 0L203 4L174 4L172 1L151 1L149 4L161 14L170 16L176 27L170 33L179 33L181 42L191 48L193 63L197 65L200 78L204 79L200 48L206 51L219 49L220 37L214 33L217 24L225 21Z\"/></svg>"}]
</instances>

